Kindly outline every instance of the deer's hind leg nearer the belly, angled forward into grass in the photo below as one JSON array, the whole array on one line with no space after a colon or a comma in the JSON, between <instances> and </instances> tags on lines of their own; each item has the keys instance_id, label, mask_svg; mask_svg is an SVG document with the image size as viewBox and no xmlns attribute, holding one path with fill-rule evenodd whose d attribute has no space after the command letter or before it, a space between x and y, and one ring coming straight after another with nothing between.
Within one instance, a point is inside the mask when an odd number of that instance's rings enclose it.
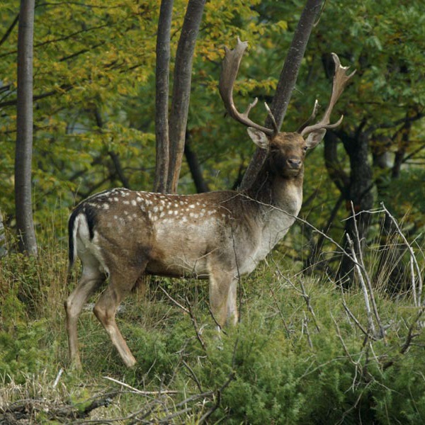
<instances>
[{"instance_id":1,"label":"deer's hind leg nearer the belly, angled forward into grass","mask_svg":"<svg viewBox=\"0 0 425 425\"><path fill-rule=\"evenodd\" d=\"M139 273L140 274L140 273ZM118 350L123 362L129 368L136 363L123 335L115 322L115 313L120 302L135 285L139 276L136 273L111 273L110 283L94 306L94 314L103 325L112 344Z\"/></svg>"}]
</instances>

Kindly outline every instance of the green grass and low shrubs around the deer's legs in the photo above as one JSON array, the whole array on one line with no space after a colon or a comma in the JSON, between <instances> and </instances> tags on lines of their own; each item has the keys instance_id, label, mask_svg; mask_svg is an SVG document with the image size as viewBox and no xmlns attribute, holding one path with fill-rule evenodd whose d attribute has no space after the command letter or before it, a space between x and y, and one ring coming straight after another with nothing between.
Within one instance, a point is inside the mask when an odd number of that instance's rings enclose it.
<instances>
[{"instance_id":1,"label":"green grass and low shrubs around the deer's legs","mask_svg":"<svg viewBox=\"0 0 425 425\"><path fill-rule=\"evenodd\" d=\"M0 417L24 404L36 423L425 422L424 331L414 327L417 336L402 353L418 308L409 293L388 296L382 280L375 297L386 336L365 341L343 305L367 328L361 290L341 293L330 278L303 277L278 252L242 279L242 321L221 338L206 283L152 279L118 314L137 365L125 368L94 314L84 311L78 371L69 368L64 330L67 255L49 245L37 260L0 260ZM69 286L76 280L77 271ZM205 349L189 314L159 285L183 305L188 296Z\"/></svg>"}]
</instances>

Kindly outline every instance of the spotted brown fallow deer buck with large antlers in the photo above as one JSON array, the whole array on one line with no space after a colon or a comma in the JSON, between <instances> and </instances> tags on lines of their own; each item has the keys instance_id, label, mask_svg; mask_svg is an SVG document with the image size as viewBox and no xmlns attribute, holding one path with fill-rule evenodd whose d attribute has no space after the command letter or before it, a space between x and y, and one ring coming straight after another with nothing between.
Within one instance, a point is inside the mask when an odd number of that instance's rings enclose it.
<instances>
[{"instance_id":1,"label":"spotted brown fallow deer buck with large antlers","mask_svg":"<svg viewBox=\"0 0 425 425\"><path fill-rule=\"evenodd\" d=\"M330 123L334 104L353 73L346 75L333 55L335 74L324 118L300 132L279 132L257 125L234 106L232 91L246 42L227 50L220 76L220 95L232 118L248 127L253 142L267 156L254 184L246 191L164 195L115 188L82 201L69 217L69 263L77 256L82 276L65 302L69 354L81 365L77 320L88 297L109 284L94 306L127 366L136 363L116 323L115 311L143 274L209 279L210 308L220 327L237 322L237 280L254 270L288 229L302 203L307 149L315 147ZM316 105L317 106L317 105ZM316 106L314 107L315 115Z\"/></svg>"}]
</instances>

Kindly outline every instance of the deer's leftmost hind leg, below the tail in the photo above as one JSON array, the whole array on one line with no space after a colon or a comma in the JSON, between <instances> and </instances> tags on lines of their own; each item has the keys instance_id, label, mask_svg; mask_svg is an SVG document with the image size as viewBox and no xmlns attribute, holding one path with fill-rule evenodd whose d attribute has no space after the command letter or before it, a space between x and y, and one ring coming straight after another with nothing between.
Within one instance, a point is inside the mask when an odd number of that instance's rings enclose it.
<instances>
[{"instance_id":1,"label":"deer's leftmost hind leg, below the tail","mask_svg":"<svg viewBox=\"0 0 425 425\"><path fill-rule=\"evenodd\" d=\"M105 281L106 275L101 273L96 261L83 262L83 272L77 287L65 301L66 326L68 334L69 358L71 363L81 368L78 348L77 323L79 314L89 296Z\"/></svg>"}]
</instances>

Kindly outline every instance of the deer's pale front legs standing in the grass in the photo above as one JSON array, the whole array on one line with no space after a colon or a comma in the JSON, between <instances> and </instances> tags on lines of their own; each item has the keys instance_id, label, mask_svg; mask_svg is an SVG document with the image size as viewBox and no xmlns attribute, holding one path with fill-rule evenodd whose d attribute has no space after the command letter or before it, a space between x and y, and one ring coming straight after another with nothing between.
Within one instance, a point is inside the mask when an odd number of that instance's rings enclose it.
<instances>
[{"instance_id":1,"label":"deer's pale front legs standing in the grass","mask_svg":"<svg viewBox=\"0 0 425 425\"><path fill-rule=\"evenodd\" d=\"M210 306L220 328L237 324L237 278L217 267L210 270Z\"/></svg>"}]
</instances>

